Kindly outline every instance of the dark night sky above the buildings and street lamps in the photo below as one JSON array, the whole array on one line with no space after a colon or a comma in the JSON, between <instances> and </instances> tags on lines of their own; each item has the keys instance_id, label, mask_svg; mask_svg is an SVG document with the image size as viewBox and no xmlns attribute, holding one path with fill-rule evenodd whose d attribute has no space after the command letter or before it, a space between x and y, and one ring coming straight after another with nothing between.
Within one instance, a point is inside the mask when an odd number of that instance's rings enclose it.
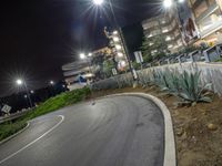
<instances>
[{"instance_id":1,"label":"dark night sky above the buildings and street lamps","mask_svg":"<svg viewBox=\"0 0 222 166\"><path fill-rule=\"evenodd\" d=\"M111 1L121 27L157 12L157 0ZM105 45L104 25L114 27L110 9L95 9L91 0L1 1L0 95L14 92L14 80L20 75L30 89L62 79L62 64L74 61L83 50ZM140 28L135 27L128 28L127 33L137 34Z\"/></svg>"}]
</instances>

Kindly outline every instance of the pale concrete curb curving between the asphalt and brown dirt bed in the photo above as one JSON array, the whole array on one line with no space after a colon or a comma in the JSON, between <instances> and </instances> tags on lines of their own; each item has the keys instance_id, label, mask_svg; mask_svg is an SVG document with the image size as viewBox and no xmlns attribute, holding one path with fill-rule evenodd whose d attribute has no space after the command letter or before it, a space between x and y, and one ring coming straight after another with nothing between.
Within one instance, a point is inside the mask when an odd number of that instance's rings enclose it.
<instances>
[{"instance_id":1,"label":"pale concrete curb curving between the asphalt and brown dirt bed","mask_svg":"<svg viewBox=\"0 0 222 166\"><path fill-rule=\"evenodd\" d=\"M175 141L174 141L174 133L173 133L173 125L170 111L165 106L165 104L155 96L145 93L119 93L119 94L111 94L109 96L139 96L147 100L152 101L161 111L164 118L164 162L163 166L176 166L176 155L175 155ZM99 97L99 98L104 98Z\"/></svg>"}]
</instances>

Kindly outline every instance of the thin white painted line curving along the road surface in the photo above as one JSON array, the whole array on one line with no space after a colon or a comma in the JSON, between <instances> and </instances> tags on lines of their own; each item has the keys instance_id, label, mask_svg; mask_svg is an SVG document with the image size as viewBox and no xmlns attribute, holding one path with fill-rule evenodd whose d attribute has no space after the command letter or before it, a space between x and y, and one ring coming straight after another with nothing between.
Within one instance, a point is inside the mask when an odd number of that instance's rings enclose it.
<instances>
[{"instance_id":1,"label":"thin white painted line curving along the road surface","mask_svg":"<svg viewBox=\"0 0 222 166\"><path fill-rule=\"evenodd\" d=\"M29 146L31 146L32 144L34 144L36 142L38 142L39 139L41 139L42 137L44 137L47 134L49 134L50 132L52 132L53 129L56 129L64 121L64 116L63 115L59 115L59 117L61 117L61 121L58 124L56 124L52 128L50 128L49 131L47 131L40 137L36 138L33 142L31 142L31 143L27 144L26 146L23 146L22 148L20 148L16 153L13 153L10 156L6 157L4 159L0 160L0 164L4 163L6 160L8 160L11 157L16 156L17 154L21 153L22 151L24 151L26 148L28 148Z\"/></svg>"}]
</instances>

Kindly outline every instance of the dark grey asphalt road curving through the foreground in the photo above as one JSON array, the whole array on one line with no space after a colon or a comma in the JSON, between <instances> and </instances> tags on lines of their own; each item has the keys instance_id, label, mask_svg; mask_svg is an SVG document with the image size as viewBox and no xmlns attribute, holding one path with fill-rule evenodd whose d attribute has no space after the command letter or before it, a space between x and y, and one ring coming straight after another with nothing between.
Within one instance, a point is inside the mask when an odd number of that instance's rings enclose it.
<instances>
[{"instance_id":1,"label":"dark grey asphalt road curving through the foreground","mask_svg":"<svg viewBox=\"0 0 222 166\"><path fill-rule=\"evenodd\" d=\"M81 103L31 121L0 145L0 166L162 166L163 126L142 97Z\"/></svg>"}]
</instances>

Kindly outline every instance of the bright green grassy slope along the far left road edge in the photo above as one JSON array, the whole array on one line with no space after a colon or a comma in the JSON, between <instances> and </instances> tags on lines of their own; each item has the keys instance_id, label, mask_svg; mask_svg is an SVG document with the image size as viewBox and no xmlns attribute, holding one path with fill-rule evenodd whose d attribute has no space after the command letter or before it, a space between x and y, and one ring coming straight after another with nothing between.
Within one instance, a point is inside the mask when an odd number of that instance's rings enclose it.
<instances>
[{"instance_id":1,"label":"bright green grassy slope along the far left road edge","mask_svg":"<svg viewBox=\"0 0 222 166\"><path fill-rule=\"evenodd\" d=\"M65 92L65 93L62 93L60 95L49 98L44 103L41 103L33 111L28 112L26 115L23 115L19 120L14 122L7 122L7 123L1 124L0 125L0 141L4 139L6 137L23 128L27 124L27 121L44 115L47 113L57 111L61 107L81 102L89 94L90 94L90 90L88 87L83 87L80 90Z\"/></svg>"}]
</instances>

